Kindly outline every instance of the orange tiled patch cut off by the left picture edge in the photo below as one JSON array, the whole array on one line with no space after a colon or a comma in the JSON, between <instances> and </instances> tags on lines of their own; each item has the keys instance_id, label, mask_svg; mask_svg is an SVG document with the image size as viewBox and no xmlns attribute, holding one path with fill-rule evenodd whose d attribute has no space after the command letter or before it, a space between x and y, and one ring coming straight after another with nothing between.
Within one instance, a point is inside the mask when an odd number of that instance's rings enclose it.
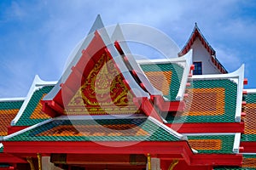
<instances>
[{"instance_id":1,"label":"orange tiled patch cut off by the left picture edge","mask_svg":"<svg viewBox=\"0 0 256 170\"><path fill-rule=\"evenodd\" d=\"M8 126L10 122L15 118L19 109L3 110L0 111L0 136L6 136L8 134Z\"/></svg>"}]
</instances>

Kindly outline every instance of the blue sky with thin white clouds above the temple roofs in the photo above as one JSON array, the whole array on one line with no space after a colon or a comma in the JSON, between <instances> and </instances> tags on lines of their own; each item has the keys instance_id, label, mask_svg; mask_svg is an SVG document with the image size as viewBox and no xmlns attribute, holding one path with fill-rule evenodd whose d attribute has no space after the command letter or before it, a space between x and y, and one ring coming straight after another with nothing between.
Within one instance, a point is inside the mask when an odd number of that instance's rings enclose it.
<instances>
[{"instance_id":1,"label":"blue sky with thin white clouds above the temple roofs","mask_svg":"<svg viewBox=\"0 0 256 170\"><path fill-rule=\"evenodd\" d=\"M228 71L246 65L256 88L256 1L0 1L0 97L26 96L33 77L57 81L76 44L101 14L105 26L139 23L182 48L197 22Z\"/></svg>"}]
</instances>

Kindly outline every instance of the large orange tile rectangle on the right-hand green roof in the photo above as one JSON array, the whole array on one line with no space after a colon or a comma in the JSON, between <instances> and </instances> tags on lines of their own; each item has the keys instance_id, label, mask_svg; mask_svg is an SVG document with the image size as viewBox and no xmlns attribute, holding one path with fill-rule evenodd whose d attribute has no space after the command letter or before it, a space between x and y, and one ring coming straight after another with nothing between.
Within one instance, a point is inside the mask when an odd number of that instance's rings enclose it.
<instances>
[{"instance_id":1,"label":"large orange tile rectangle on the right-hand green roof","mask_svg":"<svg viewBox=\"0 0 256 170\"><path fill-rule=\"evenodd\" d=\"M184 115L217 116L224 114L224 88L191 88L187 89Z\"/></svg>"}]
</instances>

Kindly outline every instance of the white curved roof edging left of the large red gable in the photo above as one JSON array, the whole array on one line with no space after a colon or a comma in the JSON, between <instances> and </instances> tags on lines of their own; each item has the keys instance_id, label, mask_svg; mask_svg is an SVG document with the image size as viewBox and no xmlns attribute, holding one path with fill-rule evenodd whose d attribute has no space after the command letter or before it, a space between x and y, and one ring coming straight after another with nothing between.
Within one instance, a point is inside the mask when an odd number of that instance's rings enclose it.
<instances>
[{"instance_id":1,"label":"white curved roof edging left of the large red gable","mask_svg":"<svg viewBox=\"0 0 256 170\"><path fill-rule=\"evenodd\" d=\"M28 94L26 95L26 98L23 102L23 104L20 107L19 112L15 116L15 118L11 122L11 126L15 126L16 122L20 119L20 116L22 116L23 111L26 109L26 105L29 103L30 99L32 98L32 94L44 86L54 86L57 82L45 82L38 77L38 75L35 76L34 81L32 82L32 86L28 91Z\"/></svg>"}]
</instances>

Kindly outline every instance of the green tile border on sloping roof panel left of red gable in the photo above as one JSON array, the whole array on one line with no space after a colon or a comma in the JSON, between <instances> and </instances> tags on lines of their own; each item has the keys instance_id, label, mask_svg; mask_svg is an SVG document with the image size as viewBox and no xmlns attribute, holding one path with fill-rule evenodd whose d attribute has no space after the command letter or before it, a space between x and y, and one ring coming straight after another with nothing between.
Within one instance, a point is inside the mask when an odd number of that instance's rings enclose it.
<instances>
[{"instance_id":1,"label":"green tile border on sloping roof panel left of red gable","mask_svg":"<svg viewBox=\"0 0 256 170\"><path fill-rule=\"evenodd\" d=\"M43 95L48 94L53 87L54 86L45 86L44 88L40 88L32 94L32 98L26 105L25 111L23 111L22 116L20 116L20 119L15 124L15 126L32 126L34 124L37 124L38 122L43 122L46 120L46 119L31 119L30 116L32 115L32 112L36 109Z\"/></svg>"}]
</instances>

